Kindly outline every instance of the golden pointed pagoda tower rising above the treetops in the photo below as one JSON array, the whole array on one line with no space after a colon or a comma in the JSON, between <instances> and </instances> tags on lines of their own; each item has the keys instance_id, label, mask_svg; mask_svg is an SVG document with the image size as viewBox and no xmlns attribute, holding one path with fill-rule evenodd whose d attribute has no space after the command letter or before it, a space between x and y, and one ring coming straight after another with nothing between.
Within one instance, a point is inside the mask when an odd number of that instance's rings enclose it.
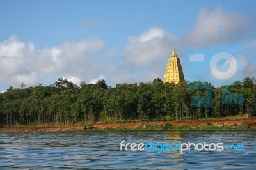
<instances>
[{"instance_id":1,"label":"golden pointed pagoda tower rising above the treetops","mask_svg":"<svg viewBox=\"0 0 256 170\"><path fill-rule=\"evenodd\" d=\"M185 79L180 64L180 59L177 57L177 54L174 49L172 52L172 56L170 56L170 58L168 59L163 83L168 82L177 84L178 82L184 81Z\"/></svg>"}]
</instances>

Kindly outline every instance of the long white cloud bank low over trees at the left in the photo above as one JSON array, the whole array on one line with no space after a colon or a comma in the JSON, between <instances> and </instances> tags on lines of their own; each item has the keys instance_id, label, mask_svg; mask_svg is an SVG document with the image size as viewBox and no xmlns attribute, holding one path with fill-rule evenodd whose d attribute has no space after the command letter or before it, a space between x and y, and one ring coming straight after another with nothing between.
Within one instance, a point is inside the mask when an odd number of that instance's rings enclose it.
<instances>
[{"instance_id":1,"label":"long white cloud bank low over trees at the left","mask_svg":"<svg viewBox=\"0 0 256 170\"><path fill-rule=\"evenodd\" d=\"M29 87L41 82L41 76L66 75L69 81L79 84L81 79L92 79L102 71L100 68L106 63L99 63L97 56L102 54L104 45L102 39L94 37L35 50L33 42L20 42L17 36L10 36L0 43L0 82L18 88L24 82Z\"/></svg>"}]
</instances>

